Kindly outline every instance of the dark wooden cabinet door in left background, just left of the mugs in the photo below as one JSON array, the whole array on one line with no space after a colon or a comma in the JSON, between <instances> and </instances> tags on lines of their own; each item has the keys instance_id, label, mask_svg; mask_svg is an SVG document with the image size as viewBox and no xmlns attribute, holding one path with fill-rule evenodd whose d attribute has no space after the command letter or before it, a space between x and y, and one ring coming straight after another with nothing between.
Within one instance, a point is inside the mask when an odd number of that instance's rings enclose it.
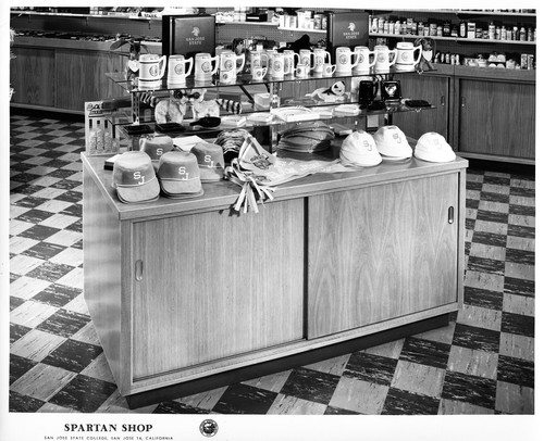
<instances>
[{"instance_id":1,"label":"dark wooden cabinet door in left background, just left of the mugs","mask_svg":"<svg viewBox=\"0 0 544 441\"><path fill-rule=\"evenodd\" d=\"M106 77L107 72L122 68L118 54L58 49L57 102L62 109L84 109L85 101L97 101L122 94L119 86Z\"/></svg>"}]
</instances>

